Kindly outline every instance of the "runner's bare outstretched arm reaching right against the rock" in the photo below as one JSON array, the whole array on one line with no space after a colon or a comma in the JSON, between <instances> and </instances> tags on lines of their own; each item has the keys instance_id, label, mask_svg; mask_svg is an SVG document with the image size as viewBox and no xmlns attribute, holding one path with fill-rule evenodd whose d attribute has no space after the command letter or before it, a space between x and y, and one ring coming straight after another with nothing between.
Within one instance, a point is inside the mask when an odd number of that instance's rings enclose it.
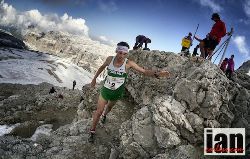
<instances>
[{"instance_id":1,"label":"runner's bare outstretched arm reaching right against the rock","mask_svg":"<svg viewBox=\"0 0 250 159\"><path fill-rule=\"evenodd\" d=\"M170 75L170 73L168 71L146 70L146 69L138 66L134 61L131 61L131 60L129 60L127 64L128 64L129 68L133 68L136 71L141 72L141 73L143 73L146 76L159 77L159 76L161 76L161 74L164 74L165 76L169 76Z\"/></svg>"}]
</instances>

